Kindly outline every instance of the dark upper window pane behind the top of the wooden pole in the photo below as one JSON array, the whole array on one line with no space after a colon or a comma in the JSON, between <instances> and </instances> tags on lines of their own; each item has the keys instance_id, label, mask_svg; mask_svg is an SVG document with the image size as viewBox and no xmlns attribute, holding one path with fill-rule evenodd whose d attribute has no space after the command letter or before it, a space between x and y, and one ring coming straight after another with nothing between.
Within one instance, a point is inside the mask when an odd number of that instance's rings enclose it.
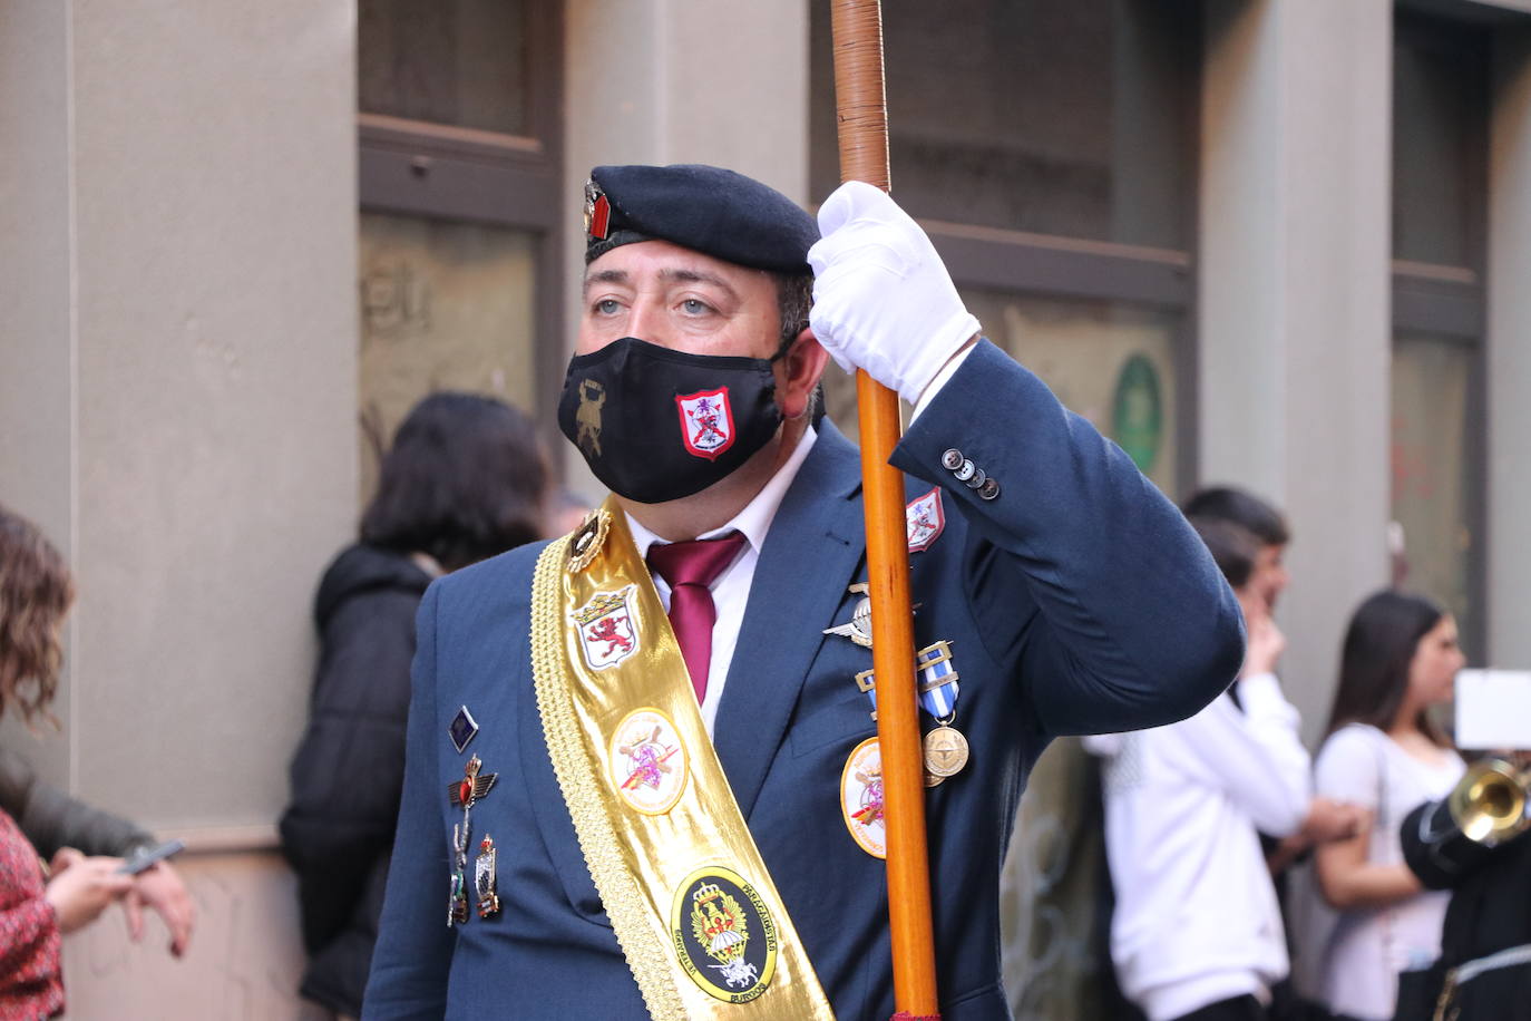
<instances>
[{"instance_id":1,"label":"dark upper window pane behind the top of the wooden pole","mask_svg":"<svg viewBox=\"0 0 1531 1021\"><path fill-rule=\"evenodd\" d=\"M922 219L1187 248L1199 5L882 5L893 191ZM813 5L813 188L839 182L828 5Z\"/></svg>"}]
</instances>

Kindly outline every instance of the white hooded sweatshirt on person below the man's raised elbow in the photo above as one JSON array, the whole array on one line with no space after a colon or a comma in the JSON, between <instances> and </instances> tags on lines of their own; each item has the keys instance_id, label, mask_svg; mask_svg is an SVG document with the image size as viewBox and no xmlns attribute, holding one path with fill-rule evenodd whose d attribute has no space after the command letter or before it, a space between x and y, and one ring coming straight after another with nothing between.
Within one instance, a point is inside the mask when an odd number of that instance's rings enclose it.
<instances>
[{"instance_id":1,"label":"white hooded sweatshirt on person below the man's raised elbow","mask_svg":"<svg viewBox=\"0 0 1531 1021\"><path fill-rule=\"evenodd\" d=\"M1116 888L1112 960L1150 1021L1288 974L1281 909L1255 830L1295 833L1311 799L1298 715L1271 674L1190 719L1085 738L1105 755L1105 850Z\"/></svg>"}]
</instances>

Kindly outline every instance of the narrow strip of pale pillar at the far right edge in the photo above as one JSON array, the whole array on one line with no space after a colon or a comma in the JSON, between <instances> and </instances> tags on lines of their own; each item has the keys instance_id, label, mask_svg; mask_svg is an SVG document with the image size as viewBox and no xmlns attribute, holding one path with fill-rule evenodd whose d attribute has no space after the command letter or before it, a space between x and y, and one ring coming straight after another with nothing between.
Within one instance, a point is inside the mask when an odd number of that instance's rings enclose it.
<instances>
[{"instance_id":1,"label":"narrow strip of pale pillar at the far right edge","mask_svg":"<svg viewBox=\"0 0 1531 1021\"><path fill-rule=\"evenodd\" d=\"M1500 32L1488 158L1488 654L1531 669L1531 32Z\"/></svg>"}]
</instances>

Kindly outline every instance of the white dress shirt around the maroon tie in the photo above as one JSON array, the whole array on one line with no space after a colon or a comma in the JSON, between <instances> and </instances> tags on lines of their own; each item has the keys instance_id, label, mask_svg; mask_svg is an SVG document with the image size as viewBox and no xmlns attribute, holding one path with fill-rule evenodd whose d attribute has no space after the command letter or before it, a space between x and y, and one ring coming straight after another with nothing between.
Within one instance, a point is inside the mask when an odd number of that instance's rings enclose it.
<instances>
[{"instance_id":1,"label":"white dress shirt around the maroon tie","mask_svg":"<svg viewBox=\"0 0 1531 1021\"><path fill-rule=\"evenodd\" d=\"M729 664L733 663L733 648L739 641L739 628L744 625L744 606L750 600L750 585L755 582L755 565L759 563L761 550L766 545L766 533L770 531L770 524L776 517L776 508L781 507L782 497L787 496L792 481L798 478L798 468L802 467L816 438L818 433L813 430L813 426L808 426L802 432L802 438L798 439L798 445L793 447L792 456L787 458L787 464L776 470L776 475L770 478L766 488L756 493L755 499L733 516L733 520L721 528L713 528L709 533L697 536L698 539L717 539L730 531L738 531L744 536L744 546L739 550L739 556L712 583L712 605L718 611L718 617L712 625L712 660L707 666L707 695L701 701L701 723L707 727L709 738L712 736L712 724L718 718L718 700L723 698L723 684L729 678ZM655 543L664 545L663 539L638 524L632 514L626 517L628 528L632 531L632 542L638 546L640 556L646 559L649 546ZM658 574L654 574L654 588L660 592L664 612L669 612L669 585Z\"/></svg>"}]
</instances>

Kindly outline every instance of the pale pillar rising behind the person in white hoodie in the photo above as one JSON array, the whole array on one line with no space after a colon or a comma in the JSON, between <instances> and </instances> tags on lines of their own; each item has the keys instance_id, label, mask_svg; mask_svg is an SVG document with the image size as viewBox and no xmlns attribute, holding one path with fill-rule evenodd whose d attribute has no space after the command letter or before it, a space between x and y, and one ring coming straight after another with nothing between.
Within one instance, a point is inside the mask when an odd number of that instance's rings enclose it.
<instances>
[{"instance_id":1,"label":"pale pillar rising behind the person in white hoodie","mask_svg":"<svg viewBox=\"0 0 1531 1021\"><path fill-rule=\"evenodd\" d=\"M1323 727L1340 638L1387 582L1393 5L1208 5L1200 481L1294 527L1289 696Z\"/></svg>"}]
</instances>

